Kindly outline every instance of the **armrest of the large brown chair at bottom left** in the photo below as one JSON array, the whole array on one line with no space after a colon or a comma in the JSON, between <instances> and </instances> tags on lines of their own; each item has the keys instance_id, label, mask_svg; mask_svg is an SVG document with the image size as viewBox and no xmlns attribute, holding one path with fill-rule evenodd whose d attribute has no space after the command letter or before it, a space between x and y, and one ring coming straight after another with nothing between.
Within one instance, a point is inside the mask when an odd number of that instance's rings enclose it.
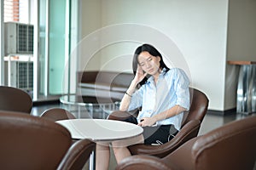
<instances>
[{"instance_id":1,"label":"armrest of the large brown chair at bottom left","mask_svg":"<svg viewBox=\"0 0 256 170\"><path fill-rule=\"evenodd\" d=\"M75 142L69 150L67 150L66 155L63 157L57 169L82 169L95 148L96 144L89 139L81 139Z\"/></svg>"}]
</instances>

